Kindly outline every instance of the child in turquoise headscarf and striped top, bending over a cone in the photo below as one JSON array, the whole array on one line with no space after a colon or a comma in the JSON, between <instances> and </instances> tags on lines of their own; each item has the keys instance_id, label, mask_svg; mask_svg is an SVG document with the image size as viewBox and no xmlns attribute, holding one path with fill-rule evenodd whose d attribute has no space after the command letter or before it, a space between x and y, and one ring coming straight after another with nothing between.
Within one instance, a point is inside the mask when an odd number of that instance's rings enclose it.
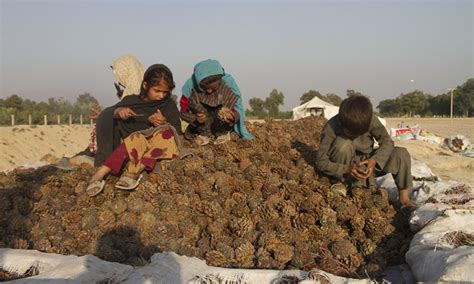
<instances>
[{"instance_id":1,"label":"child in turquoise headscarf and striped top, bending over a cone","mask_svg":"<svg viewBox=\"0 0 474 284\"><path fill-rule=\"evenodd\" d=\"M194 66L194 72L182 88L181 119L189 123L185 136L196 138L199 145L230 140L230 131L243 139L252 139L245 127L245 111L239 87L217 60L207 59Z\"/></svg>"}]
</instances>

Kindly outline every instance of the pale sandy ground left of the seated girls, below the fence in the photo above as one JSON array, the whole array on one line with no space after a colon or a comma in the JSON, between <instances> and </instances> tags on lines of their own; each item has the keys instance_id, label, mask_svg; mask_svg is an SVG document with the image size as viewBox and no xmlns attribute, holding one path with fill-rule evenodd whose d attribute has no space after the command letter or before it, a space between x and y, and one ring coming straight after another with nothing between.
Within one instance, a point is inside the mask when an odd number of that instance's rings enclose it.
<instances>
[{"instance_id":1,"label":"pale sandy ground left of the seated girls, below the fence","mask_svg":"<svg viewBox=\"0 0 474 284\"><path fill-rule=\"evenodd\" d=\"M70 157L84 150L91 125L0 127L0 171L40 160L51 154Z\"/></svg>"}]
</instances>

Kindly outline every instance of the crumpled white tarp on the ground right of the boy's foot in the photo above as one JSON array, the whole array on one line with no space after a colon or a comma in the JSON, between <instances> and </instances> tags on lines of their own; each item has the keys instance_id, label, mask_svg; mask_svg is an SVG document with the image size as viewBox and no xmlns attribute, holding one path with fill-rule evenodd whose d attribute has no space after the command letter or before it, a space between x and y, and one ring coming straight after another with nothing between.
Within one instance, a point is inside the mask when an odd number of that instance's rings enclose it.
<instances>
[{"instance_id":1,"label":"crumpled white tarp on the ground right of the boy's foot","mask_svg":"<svg viewBox=\"0 0 474 284\"><path fill-rule=\"evenodd\" d=\"M469 184L441 181L424 163L412 161L416 181L410 198L422 204L409 220L417 232L405 259L420 282L465 282L474 279L474 246L456 247L445 240L447 233L474 234L474 190ZM397 188L390 175L377 180L396 200ZM457 190L456 190L457 189ZM431 202L426 203L428 200Z\"/></svg>"}]
</instances>

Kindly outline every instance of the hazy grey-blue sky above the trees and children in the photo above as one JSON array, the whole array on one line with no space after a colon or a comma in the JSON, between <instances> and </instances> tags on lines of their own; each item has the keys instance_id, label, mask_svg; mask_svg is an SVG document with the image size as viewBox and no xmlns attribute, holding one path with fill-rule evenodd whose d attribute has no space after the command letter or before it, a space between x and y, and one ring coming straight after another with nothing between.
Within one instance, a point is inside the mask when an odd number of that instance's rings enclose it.
<instances>
[{"instance_id":1,"label":"hazy grey-blue sky above the trees and children","mask_svg":"<svg viewBox=\"0 0 474 284\"><path fill-rule=\"evenodd\" d=\"M473 1L0 2L1 98L111 105L109 65L127 53L167 64L179 96L195 63L218 59L246 105L277 88L285 109L309 89L378 103L474 77Z\"/></svg>"}]
</instances>

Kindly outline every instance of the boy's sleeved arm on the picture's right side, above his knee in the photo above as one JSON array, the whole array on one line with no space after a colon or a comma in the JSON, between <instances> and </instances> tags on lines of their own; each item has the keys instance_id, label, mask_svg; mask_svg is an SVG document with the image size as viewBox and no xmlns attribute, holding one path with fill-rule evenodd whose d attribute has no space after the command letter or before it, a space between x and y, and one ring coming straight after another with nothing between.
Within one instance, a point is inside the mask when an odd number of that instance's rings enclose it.
<instances>
[{"instance_id":1,"label":"boy's sleeved arm on the picture's right side, above his knee","mask_svg":"<svg viewBox=\"0 0 474 284\"><path fill-rule=\"evenodd\" d=\"M394 145L390 135L387 132L387 129L385 129L383 124L375 115L372 118L370 134L379 143L379 148L375 151L375 154L371 157L371 159L374 159L380 169L383 169L388 161L388 158L390 157L390 154L392 154Z\"/></svg>"}]
</instances>

